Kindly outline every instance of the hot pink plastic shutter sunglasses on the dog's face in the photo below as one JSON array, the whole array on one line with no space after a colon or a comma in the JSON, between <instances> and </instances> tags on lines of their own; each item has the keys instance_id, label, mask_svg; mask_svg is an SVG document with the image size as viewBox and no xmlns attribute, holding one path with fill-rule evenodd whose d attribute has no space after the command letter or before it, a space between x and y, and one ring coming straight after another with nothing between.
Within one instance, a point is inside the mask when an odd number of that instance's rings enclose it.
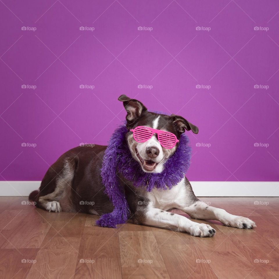
<instances>
[{"instance_id":1,"label":"hot pink plastic shutter sunglasses on the dog's face","mask_svg":"<svg viewBox=\"0 0 279 279\"><path fill-rule=\"evenodd\" d=\"M146 142L154 135L154 133L156 133L158 135L158 141L166 149L173 148L176 143L179 142L176 135L173 133L145 126L137 126L135 129L131 129L130 131L133 132L133 137L136 142Z\"/></svg>"}]
</instances>

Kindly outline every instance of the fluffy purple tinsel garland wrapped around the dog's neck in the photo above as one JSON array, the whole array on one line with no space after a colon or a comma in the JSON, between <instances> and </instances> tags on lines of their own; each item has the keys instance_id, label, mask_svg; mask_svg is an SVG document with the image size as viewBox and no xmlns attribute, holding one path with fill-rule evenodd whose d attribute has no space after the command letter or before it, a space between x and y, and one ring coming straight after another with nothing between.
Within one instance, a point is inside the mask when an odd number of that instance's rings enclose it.
<instances>
[{"instance_id":1,"label":"fluffy purple tinsel garland wrapped around the dog's neck","mask_svg":"<svg viewBox=\"0 0 279 279\"><path fill-rule=\"evenodd\" d=\"M189 168L191 147L187 135L182 134L176 152L164 163L161 173L146 173L140 164L133 159L126 142L126 125L119 126L112 134L105 150L101 176L105 186L105 194L114 205L111 213L103 214L96 224L101 227L116 228L129 217L129 206L117 179L119 171L127 180L133 181L135 187L144 187L146 191L152 189L171 189L185 176Z\"/></svg>"}]
</instances>

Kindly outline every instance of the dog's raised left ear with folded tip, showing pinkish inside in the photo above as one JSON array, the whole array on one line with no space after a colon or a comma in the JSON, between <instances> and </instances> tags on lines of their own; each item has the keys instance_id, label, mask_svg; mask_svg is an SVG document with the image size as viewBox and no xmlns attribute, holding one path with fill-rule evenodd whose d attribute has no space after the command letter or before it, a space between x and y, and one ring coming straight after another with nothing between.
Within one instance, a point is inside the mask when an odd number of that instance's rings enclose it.
<instances>
[{"instance_id":1,"label":"dog's raised left ear with folded tip, showing pinkish inside","mask_svg":"<svg viewBox=\"0 0 279 279\"><path fill-rule=\"evenodd\" d=\"M131 99L124 94L121 95L118 100L123 102L124 108L127 111L127 124L133 122L147 111L147 108L143 105L143 103L136 99Z\"/></svg>"}]
</instances>

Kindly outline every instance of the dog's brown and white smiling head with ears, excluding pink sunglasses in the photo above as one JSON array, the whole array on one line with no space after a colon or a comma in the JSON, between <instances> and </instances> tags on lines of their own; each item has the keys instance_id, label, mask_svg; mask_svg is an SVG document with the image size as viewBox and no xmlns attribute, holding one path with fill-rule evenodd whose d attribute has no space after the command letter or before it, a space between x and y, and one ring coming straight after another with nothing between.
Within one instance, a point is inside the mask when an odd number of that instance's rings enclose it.
<instances>
[{"instance_id":1,"label":"dog's brown and white smiling head with ears, excluding pink sunglasses","mask_svg":"<svg viewBox=\"0 0 279 279\"><path fill-rule=\"evenodd\" d=\"M129 132L126 135L126 140L130 152L145 172L162 172L163 164L174 154L179 142L173 148L166 149L160 144L156 133L146 142L137 142L130 129L134 129L137 126L146 126L173 133L178 140L185 130L192 130L195 134L198 133L198 127L179 115L168 116L149 112L140 101L130 99L126 95L121 95L118 100L123 102L124 108L127 111L126 126Z\"/></svg>"}]
</instances>

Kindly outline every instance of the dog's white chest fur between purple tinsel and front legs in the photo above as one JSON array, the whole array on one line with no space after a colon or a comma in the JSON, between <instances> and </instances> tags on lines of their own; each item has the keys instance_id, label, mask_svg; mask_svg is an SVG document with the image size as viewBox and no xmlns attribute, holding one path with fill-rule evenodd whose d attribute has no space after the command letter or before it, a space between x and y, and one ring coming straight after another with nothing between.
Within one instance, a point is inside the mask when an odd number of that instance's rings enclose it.
<instances>
[{"instance_id":1,"label":"dog's white chest fur between purple tinsel and front legs","mask_svg":"<svg viewBox=\"0 0 279 279\"><path fill-rule=\"evenodd\" d=\"M185 186L184 179L182 179L176 186L170 190L158 190L153 189L148 193L150 205L159 208L161 210L169 210L176 208L178 204L182 204L185 201Z\"/></svg>"}]
</instances>

